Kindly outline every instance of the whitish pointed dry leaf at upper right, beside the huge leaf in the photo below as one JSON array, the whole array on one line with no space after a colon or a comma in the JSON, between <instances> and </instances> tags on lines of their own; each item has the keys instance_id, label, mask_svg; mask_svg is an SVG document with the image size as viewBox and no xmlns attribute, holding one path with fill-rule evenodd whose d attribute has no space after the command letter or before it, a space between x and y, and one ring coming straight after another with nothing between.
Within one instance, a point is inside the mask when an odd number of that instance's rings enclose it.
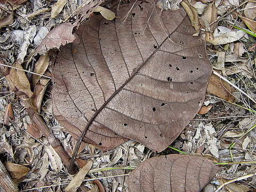
<instances>
[{"instance_id":1,"label":"whitish pointed dry leaf at upper right, beside the huge leaf","mask_svg":"<svg viewBox=\"0 0 256 192\"><path fill-rule=\"evenodd\" d=\"M214 39L209 41L213 45L222 45L241 39L246 33L242 30L232 31L226 27L218 26L213 33Z\"/></svg>"}]
</instances>

